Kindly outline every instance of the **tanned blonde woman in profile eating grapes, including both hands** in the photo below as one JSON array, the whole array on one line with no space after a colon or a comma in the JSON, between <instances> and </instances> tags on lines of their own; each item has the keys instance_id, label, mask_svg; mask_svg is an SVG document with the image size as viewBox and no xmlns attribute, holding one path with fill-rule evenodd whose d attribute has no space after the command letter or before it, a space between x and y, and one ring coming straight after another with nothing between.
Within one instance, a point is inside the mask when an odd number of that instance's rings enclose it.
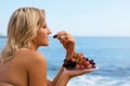
<instances>
[{"instance_id":1,"label":"tanned blonde woman in profile eating grapes, including both hands","mask_svg":"<svg viewBox=\"0 0 130 86\"><path fill-rule=\"evenodd\" d=\"M13 13L8 26L6 44L0 56L0 82L5 82L4 86L66 86L72 77L91 72L64 71L61 67L53 81L47 80L47 60L37 49L49 45L49 34L51 30L43 10L21 8ZM73 35L65 31L56 35L66 49L65 59L69 59L75 52Z\"/></svg>"}]
</instances>

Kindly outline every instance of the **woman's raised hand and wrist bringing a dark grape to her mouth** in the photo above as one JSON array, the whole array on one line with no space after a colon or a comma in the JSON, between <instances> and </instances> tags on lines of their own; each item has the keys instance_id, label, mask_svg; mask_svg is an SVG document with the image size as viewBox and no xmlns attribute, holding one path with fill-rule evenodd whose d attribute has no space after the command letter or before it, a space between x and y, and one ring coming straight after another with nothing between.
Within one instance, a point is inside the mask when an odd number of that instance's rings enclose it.
<instances>
[{"instance_id":1,"label":"woman's raised hand and wrist bringing a dark grape to her mouth","mask_svg":"<svg viewBox=\"0 0 130 86\"><path fill-rule=\"evenodd\" d=\"M57 39L66 49L66 59L69 59L73 57L73 54L75 53L75 39L72 34L67 33L66 31L60 31L56 34Z\"/></svg>"}]
</instances>

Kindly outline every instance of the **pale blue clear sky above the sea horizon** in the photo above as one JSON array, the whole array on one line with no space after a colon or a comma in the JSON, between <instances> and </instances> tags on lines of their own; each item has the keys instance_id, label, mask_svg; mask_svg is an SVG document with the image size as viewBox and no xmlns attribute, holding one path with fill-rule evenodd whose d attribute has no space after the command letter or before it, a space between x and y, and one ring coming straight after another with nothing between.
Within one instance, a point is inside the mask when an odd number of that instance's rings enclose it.
<instances>
[{"instance_id":1,"label":"pale blue clear sky above the sea horizon","mask_svg":"<svg viewBox=\"0 0 130 86\"><path fill-rule=\"evenodd\" d=\"M46 10L52 34L130 37L130 0L1 0L0 34L6 35L10 16L23 6Z\"/></svg>"}]
</instances>

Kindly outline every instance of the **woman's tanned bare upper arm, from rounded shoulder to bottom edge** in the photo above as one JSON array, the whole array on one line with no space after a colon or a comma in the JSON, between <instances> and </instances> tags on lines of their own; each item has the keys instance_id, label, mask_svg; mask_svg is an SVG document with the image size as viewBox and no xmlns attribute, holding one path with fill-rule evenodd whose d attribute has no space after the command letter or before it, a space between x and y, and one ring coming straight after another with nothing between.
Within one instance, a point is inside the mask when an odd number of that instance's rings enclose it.
<instances>
[{"instance_id":1,"label":"woman's tanned bare upper arm, from rounded shoulder to bottom edge","mask_svg":"<svg viewBox=\"0 0 130 86\"><path fill-rule=\"evenodd\" d=\"M27 72L29 86L47 86L47 61L39 53L28 58Z\"/></svg>"}]
</instances>

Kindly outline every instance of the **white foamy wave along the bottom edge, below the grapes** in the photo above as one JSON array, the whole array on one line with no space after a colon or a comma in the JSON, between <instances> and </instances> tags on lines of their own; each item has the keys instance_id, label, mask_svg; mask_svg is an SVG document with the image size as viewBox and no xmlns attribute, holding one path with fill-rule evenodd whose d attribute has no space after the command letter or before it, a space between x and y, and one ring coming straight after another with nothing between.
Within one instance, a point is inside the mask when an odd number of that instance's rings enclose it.
<instances>
[{"instance_id":1,"label":"white foamy wave along the bottom edge, below the grapes","mask_svg":"<svg viewBox=\"0 0 130 86\"><path fill-rule=\"evenodd\" d=\"M82 75L73 78L68 86L129 86L130 76L128 77L112 77L101 75Z\"/></svg>"}]
</instances>

